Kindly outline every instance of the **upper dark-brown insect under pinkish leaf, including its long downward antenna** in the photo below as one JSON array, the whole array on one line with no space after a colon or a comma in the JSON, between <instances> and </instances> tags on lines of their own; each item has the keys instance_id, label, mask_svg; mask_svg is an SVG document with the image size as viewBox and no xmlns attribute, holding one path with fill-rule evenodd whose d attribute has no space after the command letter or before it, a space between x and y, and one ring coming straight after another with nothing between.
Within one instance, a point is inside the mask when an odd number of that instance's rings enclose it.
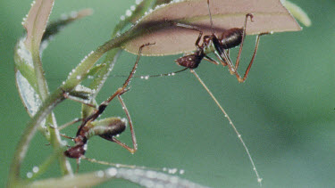
<instances>
[{"instance_id":1,"label":"upper dark-brown insect under pinkish leaf, including its long downward antenna","mask_svg":"<svg viewBox=\"0 0 335 188\"><path fill-rule=\"evenodd\" d=\"M266 33L260 33L256 36L254 53L252 55L251 61L249 62L248 66L247 66L247 69L244 73L244 76L241 77L239 75L238 68L239 68L239 59L240 59L240 55L242 53L243 43L244 43L244 40L245 40L245 37L246 37L247 20L248 20L248 18L250 18L250 20L253 21L254 15L252 13L247 13L246 18L244 20L244 25L243 25L242 28L227 29L224 32L222 32L221 36L217 37L214 33L213 20L212 20L212 14L211 14L210 6L209 6L209 0L207 0L207 7L208 7L209 18L210 18L210 23L211 23L212 35L208 35L208 36L203 37L203 31L201 31L201 29L197 28L196 26L191 26L191 25L188 25L188 24L185 24L185 23L173 23L177 27L184 28L184 29L193 29L193 30L196 30L196 31L199 32L199 35L198 35L196 43L195 43L195 45L197 47L196 51L194 51L193 53L188 53L188 54L178 58L175 61L180 66L186 67L186 69L190 69L191 73L193 73L196 76L196 78L200 82L200 84L202 86L204 86L206 92L208 94L210 94L210 96L212 97L212 99L214 100L216 105L220 108L220 110L222 110L222 113L224 114L224 116L229 120L230 126L234 129L235 133L238 135L240 143L242 143L245 151L247 152L247 156L249 158L250 163L253 166L255 176L257 177L257 182L261 185L262 178L259 176L259 174L257 172L257 169L255 168L255 162L252 159L251 154L247 149L247 145L242 139L242 136L239 134L239 131L237 130L237 128L232 123L232 121L231 121L230 117L228 116L227 112L225 110L223 110L222 105L220 104L220 102L217 101L214 94L212 94L212 92L208 89L208 87L205 86L205 83L197 75L197 73L194 69L196 69L198 67L199 63L202 60L210 61L210 62L212 62L216 65L222 64L223 67L228 66L228 69L230 70L230 74L235 75L239 82L244 82L247 79L247 75L249 73L249 70L250 70L250 68L251 68L251 66L252 66L252 64L255 60L255 54L257 53L260 37L263 36L263 35L266 35L266 34L270 34L270 33L267 33L267 32ZM200 45L200 40L201 40L202 37L203 37L203 43ZM235 65L234 65L232 63L232 61L230 60L229 49L233 48L233 47L236 47L238 45L239 45L239 53L238 53L238 56L237 56L237 59L235 61ZM207 53L214 53L219 61L215 61L211 57L207 56ZM182 70L184 70L184 69L182 69Z\"/></svg>"}]
</instances>

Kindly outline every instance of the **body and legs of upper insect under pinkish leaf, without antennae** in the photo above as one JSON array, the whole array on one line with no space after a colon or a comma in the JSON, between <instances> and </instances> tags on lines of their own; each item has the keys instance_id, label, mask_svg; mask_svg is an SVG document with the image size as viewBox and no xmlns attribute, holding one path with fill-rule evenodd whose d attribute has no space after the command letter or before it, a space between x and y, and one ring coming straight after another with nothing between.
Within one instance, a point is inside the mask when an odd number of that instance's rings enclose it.
<instances>
[{"instance_id":1,"label":"body and legs of upper insect under pinkish leaf, without antennae","mask_svg":"<svg viewBox=\"0 0 335 188\"><path fill-rule=\"evenodd\" d=\"M239 73L238 73L239 58L242 53L244 39L246 37L247 18L250 18L250 20L253 21L254 15L252 13L247 13L246 19L244 21L244 26L242 28L227 29L224 32L222 32L221 37L216 37L214 33L214 29L213 29L212 14L209 8L209 0L207 0L207 6L208 6L208 12L209 12L209 17L211 21L212 35L204 36L202 45L199 45L199 42L200 42L201 37L203 36L203 31L201 31L195 26L187 25L184 23L174 23L177 27L185 28L185 29L194 29L199 32L199 36L197 37L196 44L195 44L197 47L197 50L194 53L184 55L175 61L180 66L186 67L188 69L196 69L199 63L203 59L206 61L210 61L216 65L220 63L223 66L228 65L230 74L235 75L236 78L239 80L239 82L244 82L247 79L247 74L249 73L251 65L253 64L255 60L255 54L258 49L260 36L263 36L269 33L261 33L257 35L254 54L242 78L239 76ZM238 57L236 59L235 66L234 66L234 64L230 60L229 49L236 47L238 45L239 45L239 54L238 54ZM215 61L214 59L207 56L207 53L213 53L213 52L215 53L215 56L219 59L220 62Z\"/></svg>"}]
</instances>

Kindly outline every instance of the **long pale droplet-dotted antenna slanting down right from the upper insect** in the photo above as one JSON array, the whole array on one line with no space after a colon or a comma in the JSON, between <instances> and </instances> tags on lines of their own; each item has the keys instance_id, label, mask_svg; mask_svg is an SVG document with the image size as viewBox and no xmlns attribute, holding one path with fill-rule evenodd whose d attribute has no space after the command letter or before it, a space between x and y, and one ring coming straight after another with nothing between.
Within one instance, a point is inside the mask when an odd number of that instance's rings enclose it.
<instances>
[{"instance_id":1,"label":"long pale droplet-dotted antenna slanting down right from the upper insect","mask_svg":"<svg viewBox=\"0 0 335 188\"><path fill-rule=\"evenodd\" d=\"M194 74L194 76L196 76L197 80L205 88L205 91L211 96L211 98L213 99L213 101L216 103L216 105L222 111L224 117L226 119L228 119L228 121L230 122L230 126L234 129L236 135L238 135L238 137L239 137L239 142L242 143L242 145L244 147L244 150L247 152L247 157L249 158L249 161L250 161L250 163L251 163L251 165L253 167L253 170L255 172L255 176L257 177L257 182L258 182L258 184L260 184L262 186L262 177L259 176L257 168L255 168L254 159L251 157L251 154L250 154L249 150L247 149L247 144L242 139L242 135L239 134L238 129L232 123L232 120L230 119L228 113L222 108L222 105L220 104L220 102L217 101L217 99L215 98L214 94L212 94L212 92L208 89L208 87L205 85L204 81L197 75L197 72L194 69L189 69L189 70L191 71L192 74Z\"/></svg>"}]
</instances>

